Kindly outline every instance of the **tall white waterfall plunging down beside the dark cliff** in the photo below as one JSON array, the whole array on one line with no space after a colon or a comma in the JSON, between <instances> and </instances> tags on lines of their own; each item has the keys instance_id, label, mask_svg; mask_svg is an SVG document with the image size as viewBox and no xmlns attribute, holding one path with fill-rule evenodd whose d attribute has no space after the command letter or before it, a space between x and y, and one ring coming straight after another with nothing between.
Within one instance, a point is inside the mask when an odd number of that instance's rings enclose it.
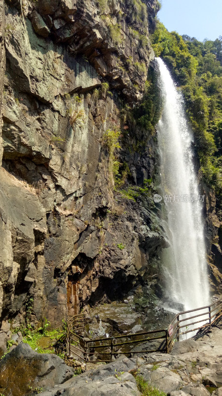
<instances>
[{"instance_id":1,"label":"tall white waterfall plunging down beside the dark cliff","mask_svg":"<svg viewBox=\"0 0 222 396\"><path fill-rule=\"evenodd\" d=\"M202 207L194 168L192 131L183 96L162 61L159 88L163 111L157 124L163 225L170 247L163 249L165 301L168 308L188 310L209 303ZM179 309L182 308L182 309Z\"/></svg>"}]
</instances>

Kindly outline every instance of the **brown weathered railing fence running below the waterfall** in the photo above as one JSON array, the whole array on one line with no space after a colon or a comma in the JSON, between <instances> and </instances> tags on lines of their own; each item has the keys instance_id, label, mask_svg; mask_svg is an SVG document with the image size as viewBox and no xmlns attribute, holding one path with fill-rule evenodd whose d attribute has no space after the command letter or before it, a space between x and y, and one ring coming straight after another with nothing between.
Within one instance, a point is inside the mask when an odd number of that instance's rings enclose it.
<instances>
[{"instance_id":1,"label":"brown weathered railing fence running below the waterfall","mask_svg":"<svg viewBox=\"0 0 222 396\"><path fill-rule=\"evenodd\" d=\"M194 312L198 312L194 314ZM68 316L67 345L69 354L74 354L80 361L109 363L112 357L121 354L139 354L151 352L169 353L180 336L199 329L209 328L222 316L222 297L211 305L189 311L179 312L167 329L152 330L142 333L90 340L81 337L85 329L85 315ZM195 320L195 319L198 320ZM192 321L193 319L193 321ZM200 324L199 327L194 325ZM157 344L156 344L157 342ZM142 346L142 350L135 350L135 346Z\"/></svg>"}]
</instances>

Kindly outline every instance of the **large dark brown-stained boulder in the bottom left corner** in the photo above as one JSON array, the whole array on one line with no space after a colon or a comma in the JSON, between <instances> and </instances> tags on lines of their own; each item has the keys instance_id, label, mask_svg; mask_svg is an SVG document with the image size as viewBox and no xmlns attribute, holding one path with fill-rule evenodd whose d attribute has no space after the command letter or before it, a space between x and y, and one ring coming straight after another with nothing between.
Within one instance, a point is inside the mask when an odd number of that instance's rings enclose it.
<instances>
[{"instance_id":1,"label":"large dark brown-stained boulder in the bottom left corner","mask_svg":"<svg viewBox=\"0 0 222 396\"><path fill-rule=\"evenodd\" d=\"M35 388L48 390L72 376L73 371L59 356L37 353L28 344L19 344L0 360L0 394L30 395Z\"/></svg>"}]
</instances>

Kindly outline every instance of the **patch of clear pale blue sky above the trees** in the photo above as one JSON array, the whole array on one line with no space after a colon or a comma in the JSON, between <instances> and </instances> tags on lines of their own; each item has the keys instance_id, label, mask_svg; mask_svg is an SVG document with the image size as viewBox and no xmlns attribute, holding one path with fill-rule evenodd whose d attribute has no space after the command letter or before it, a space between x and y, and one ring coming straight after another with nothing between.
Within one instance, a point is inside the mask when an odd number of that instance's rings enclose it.
<instances>
[{"instance_id":1,"label":"patch of clear pale blue sky above the trees","mask_svg":"<svg viewBox=\"0 0 222 396\"><path fill-rule=\"evenodd\" d=\"M157 17L169 32L199 41L222 36L222 0L161 0Z\"/></svg>"}]
</instances>

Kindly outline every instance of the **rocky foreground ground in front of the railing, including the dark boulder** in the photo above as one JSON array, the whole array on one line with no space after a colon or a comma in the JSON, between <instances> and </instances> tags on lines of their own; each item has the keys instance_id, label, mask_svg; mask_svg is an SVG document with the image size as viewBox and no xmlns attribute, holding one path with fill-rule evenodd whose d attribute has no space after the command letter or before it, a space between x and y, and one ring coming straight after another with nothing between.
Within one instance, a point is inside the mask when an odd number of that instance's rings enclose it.
<instances>
[{"instance_id":1,"label":"rocky foreground ground in front of the railing, including the dark boulder","mask_svg":"<svg viewBox=\"0 0 222 396\"><path fill-rule=\"evenodd\" d=\"M168 396L221 396L222 322L176 343L170 354L122 356L77 376L58 356L39 354L21 343L1 359L0 372L5 396L139 396L137 376Z\"/></svg>"}]
</instances>

